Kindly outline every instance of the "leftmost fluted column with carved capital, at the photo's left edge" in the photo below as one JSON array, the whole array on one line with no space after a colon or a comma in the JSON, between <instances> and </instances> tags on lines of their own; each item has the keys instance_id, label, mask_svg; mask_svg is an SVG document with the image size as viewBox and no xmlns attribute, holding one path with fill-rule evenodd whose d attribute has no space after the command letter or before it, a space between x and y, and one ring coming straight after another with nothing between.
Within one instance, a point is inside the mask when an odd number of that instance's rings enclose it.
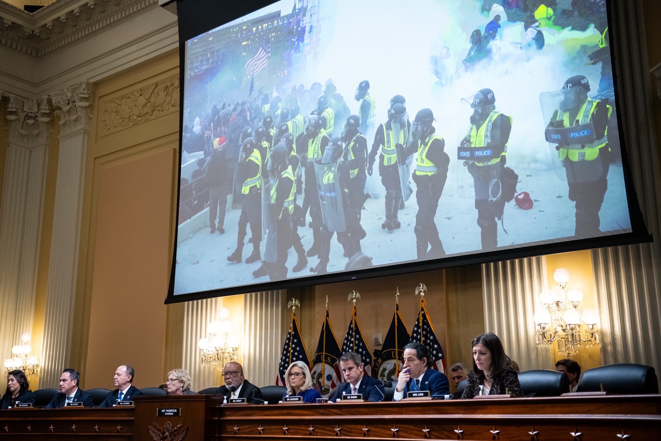
<instances>
[{"instance_id":1,"label":"leftmost fluted column with carved capital, at the photo's left edge","mask_svg":"<svg viewBox=\"0 0 661 441\"><path fill-rule=\"evenodd\" d=\"M2 94L0 93L0 98ZM7 157L0 206L0 358L32 330L34 294L52 132L47 97L9 95Z\"/></svg>"}]
</instances>

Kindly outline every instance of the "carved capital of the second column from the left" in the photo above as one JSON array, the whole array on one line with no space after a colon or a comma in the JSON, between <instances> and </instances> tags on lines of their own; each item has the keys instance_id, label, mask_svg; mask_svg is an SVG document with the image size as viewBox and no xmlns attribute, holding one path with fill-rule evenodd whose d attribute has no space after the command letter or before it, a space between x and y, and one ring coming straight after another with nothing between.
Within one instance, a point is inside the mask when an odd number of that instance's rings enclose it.
<instances>
[{"instance_id":1,"label":"carved capital of the second column from the left","mask_svg":"<svg viewBox=\"0 0 661 441\"><path fill-rule=\"evenodd\" d=\"M93 84L82 81L73 87L67 86L62 91L51 94L53 106L58 109L55 111L55 116L59 117L60 137L89 130L93 93Z\"/></svg>"}]
</instances>

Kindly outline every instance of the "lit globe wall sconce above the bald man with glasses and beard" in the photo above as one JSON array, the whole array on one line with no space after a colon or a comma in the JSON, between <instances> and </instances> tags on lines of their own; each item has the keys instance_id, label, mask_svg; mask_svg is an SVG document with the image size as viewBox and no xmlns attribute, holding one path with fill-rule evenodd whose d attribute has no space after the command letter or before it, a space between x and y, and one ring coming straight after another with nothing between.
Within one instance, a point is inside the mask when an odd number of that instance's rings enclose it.
<instances>
[{"instance_id":1,"label":"lit globe wall sconce above the bald man with glasses and beard","mask_svg":"<svg viewBox=\"0 0 661 441\"><path fill-rule=\"evenodd\" d=\"M207 325L208 337L198 341L200 348L200 364L223 370L225 364L239 359L239 338L229 336L232 324L227 321L229 309L221 307L218 311L219 320Z\"/></svg>"}]
</instances>

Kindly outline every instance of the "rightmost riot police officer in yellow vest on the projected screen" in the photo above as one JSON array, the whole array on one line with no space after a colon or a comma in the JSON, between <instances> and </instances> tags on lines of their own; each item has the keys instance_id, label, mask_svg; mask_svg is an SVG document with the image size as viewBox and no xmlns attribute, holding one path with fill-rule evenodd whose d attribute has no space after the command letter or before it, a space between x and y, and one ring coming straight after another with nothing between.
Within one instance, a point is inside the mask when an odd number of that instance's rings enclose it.
<instances>
[{"instance_id":1,"label":"rightmost riot police officer in yellow vest on the projected screen","mask_svg":"<svg viewBox=\"0 0 661 441\"><path fill-rule=\"evenodd\" d=\"M599 211L608 186L610 164L608 124L613 108L608 100L588 98L590 83L583 75L576 75L564 82L564 99L553 112L549 128L571 130L582 126L594 135L580 143L563 142L555 145L557 160L562 162L569 184L569 199L575 202L578 238L600 235ZM617 132L615 132L617 133ZM547 141L549 139L547 130ZM553 142L553 144L556 144ZM555 153L555 152L554 152Z\"/></svg>"}]
</instances>

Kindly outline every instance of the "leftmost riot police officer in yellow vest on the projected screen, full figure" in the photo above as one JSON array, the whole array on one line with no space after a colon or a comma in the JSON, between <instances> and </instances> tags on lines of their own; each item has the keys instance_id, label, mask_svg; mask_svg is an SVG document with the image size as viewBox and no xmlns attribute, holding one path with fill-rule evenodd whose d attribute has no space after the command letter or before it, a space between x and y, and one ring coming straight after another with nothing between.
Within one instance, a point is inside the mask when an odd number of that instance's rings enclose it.
<instances>
[{"instance_id":1,"label":"leftmost riot police officer in yellow vest on the projected screen, full figure","mask_svg":"<svg viewBox=\"0 0 661 441\"><path fill-rule=\"evenodd\" d=\"M253 253L246 259L246 263L252 263L261 259L259 245L262 238L262 155L253 138L247 138L241 146L239 180L243 182L241 187L243 206L241 206L241 216L239 216L237 249L227 257L227 260L241 262L243 259L246 227L250 223L253 234Z\"/></svg>"}]
</instances>

